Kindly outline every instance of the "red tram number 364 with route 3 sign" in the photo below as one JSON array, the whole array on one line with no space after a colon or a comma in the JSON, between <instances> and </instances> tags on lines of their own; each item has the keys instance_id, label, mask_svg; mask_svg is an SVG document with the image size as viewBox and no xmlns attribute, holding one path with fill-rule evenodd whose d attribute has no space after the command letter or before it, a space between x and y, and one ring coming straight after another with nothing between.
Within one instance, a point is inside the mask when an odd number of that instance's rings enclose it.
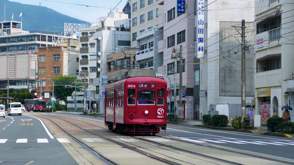
<instances>
[{"instance_id":1,"label":"red tram number 364 with route 3 sign","mask_svg":"<svg viewBox=\"0 0 294 165\"><path fill-rule=\"evenodd\" d=\"M121 134L165 134L166 99L167 83L155 70L128 70L105 87L105 126Z\"/></svg>"}]
</instances>

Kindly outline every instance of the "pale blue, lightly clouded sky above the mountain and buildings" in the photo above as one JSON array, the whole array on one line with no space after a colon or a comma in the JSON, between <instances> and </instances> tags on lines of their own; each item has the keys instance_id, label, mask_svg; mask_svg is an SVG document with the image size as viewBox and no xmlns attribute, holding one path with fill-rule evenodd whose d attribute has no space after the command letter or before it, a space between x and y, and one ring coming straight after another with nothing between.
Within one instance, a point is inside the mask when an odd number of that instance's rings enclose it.
<instances>
[{"instance_id":1,"label":"pale blue, lightly clouded sky above the mountain and buildings","mask_svg":"<svg viewBox=\"0 0 294 165\"><path fill-rule=\"evenodd\" d=\"M50 9L53 9L61 14L65 14L67 16L71 16L74 18L78 18L83 21L87 21L90 23L96 23L96 18L107 16L107 13L110 12L110 9L103 9L97 7L105 7L105 8L114 8L120 0L10 0L14 2L19 2L22 4L30 4L30 5L38 5L39 2L42 3L42 6L46 6ZM56 1L56 2L52 2ZM64 4L64 3L71 4ZM89 5L89 6L97 6L97 7L86 7L80 5ZM123 8L126 4L126 0L122 0L118 7ZM112 6L112 7L111 7ZM116 10L113 10L116 11Z\"/></svg>"}]
</instances>

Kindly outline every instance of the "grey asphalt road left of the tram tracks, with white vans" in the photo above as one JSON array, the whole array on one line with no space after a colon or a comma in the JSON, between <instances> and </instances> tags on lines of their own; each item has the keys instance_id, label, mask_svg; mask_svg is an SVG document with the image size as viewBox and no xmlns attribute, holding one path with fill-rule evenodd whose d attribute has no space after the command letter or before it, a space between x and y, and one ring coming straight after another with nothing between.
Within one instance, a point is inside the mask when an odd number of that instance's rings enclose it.
<instances>
[{"instance_id":1,"label":"grey asphalt road left of the tram tracks, with white vans","mask_svg":"<svg viewBox=\"0 0 294 165\"><path fill-rule=\"evenodd\" d=\"M77 164L62 144L45 128L47 129L34 117L12 115L0 118L0 160L34 161L32 165ZM32 149L7 150L12 147Z\"/></svg>"}]
</instances>

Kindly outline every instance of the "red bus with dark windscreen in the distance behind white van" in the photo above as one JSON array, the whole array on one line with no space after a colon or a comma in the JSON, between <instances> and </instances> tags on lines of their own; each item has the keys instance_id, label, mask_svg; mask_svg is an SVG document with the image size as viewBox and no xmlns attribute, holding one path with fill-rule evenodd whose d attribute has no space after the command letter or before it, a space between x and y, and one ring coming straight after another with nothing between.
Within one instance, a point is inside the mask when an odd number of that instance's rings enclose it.
<instances>
[{"instance_id":1,"label":"red bus with dark windscreen in the distance behind white van","mask_svg":"<svg viewBox=\"0 0 294 165\"><path fill-rule=\"evenodd\" d=\"M25 107L25 110L27 110L28 112L30 112L30 111L43 112L44 110L46 110L46 100L26 99L26 100L24 100L24 107Z\"/></svg>"}]
</instances>

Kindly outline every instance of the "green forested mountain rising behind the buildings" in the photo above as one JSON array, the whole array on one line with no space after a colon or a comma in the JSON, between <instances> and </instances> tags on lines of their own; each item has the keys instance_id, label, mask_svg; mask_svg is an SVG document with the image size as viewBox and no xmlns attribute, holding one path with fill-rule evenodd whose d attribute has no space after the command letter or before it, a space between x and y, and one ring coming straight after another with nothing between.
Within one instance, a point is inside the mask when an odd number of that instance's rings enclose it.
<instances>
[{"instance_id":1,"label":"green forested mountain rising behind the buildings","mask_svg":"<svg viewBox=\"0 0 294 165\"><path fill-rule=\"evenodd\" d=\"M63 32L64 23L88 23L70 16L66 16L57 11L44 6L21 4L18 2L5 1L6 21L21 21L19 15L22 12L22 29L26 31L41 30L49 32ZM0 0L0 13L4 20L4 0Z\"/></svg>"}]
</instances>

